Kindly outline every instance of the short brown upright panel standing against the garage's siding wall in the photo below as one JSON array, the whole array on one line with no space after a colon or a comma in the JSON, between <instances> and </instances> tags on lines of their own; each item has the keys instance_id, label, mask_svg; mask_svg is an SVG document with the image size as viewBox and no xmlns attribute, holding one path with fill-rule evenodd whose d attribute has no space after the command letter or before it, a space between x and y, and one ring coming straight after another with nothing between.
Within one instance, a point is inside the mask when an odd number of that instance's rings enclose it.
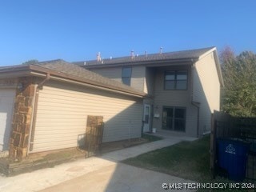
<instances>
[{"instance_id":1,"label":"short brown upright panel standing against the garage's siding wall","mask_svg":"<svg viewBox=\"0 0 256 192\"><path fill-rule=\"evenodd\" d=\"M86 158L100 152L102 145L103 125L102 116L88 115L85 139Z\"/></svg>"}]
</instances>

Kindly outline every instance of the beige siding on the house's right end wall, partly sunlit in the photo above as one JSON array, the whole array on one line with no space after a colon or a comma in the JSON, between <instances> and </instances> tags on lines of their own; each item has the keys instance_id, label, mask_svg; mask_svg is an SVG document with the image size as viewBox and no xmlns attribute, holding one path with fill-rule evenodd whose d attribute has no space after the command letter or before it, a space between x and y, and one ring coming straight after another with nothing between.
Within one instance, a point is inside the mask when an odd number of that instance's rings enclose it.
<instances>
[{"instance_id":1,"label":"beige siding on the house's right end wall, partly sunlit","mask_svg":"<svg viewBox=\"0 0 256 192\"><path fill-rule=\"evenodd\" d=\"M211 113L220 107L220 83L213 53L195 64L193 100L200 102L200 134L210 130Z\"/></svg>"}]
</instances>

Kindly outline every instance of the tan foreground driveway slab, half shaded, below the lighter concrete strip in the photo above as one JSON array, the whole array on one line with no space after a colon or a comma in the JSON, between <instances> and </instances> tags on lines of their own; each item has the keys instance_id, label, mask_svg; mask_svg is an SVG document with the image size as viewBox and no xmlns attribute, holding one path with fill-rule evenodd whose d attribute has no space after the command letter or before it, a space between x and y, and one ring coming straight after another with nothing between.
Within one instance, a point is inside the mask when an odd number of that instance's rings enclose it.
<instances>
[{"instance_id":1,"label":"tan foreground driveway slab, half shaded, below the lighter concrete strip","mask_svg":"<svg viewBox=\"0 0 256 192\"><path fill-rule=\"evenodd\" d=\"M162 188L162 183L191 183L191 181L162 174L151 170L140 169L118 163L103 167L100 170L90 172L81 177L62 182L56 186L51 186L40 192L131 192L166 191ZM172 190L182 191L182 190ZM189 191L189 190L184 190Z\"/></svg>"}]
</instances>

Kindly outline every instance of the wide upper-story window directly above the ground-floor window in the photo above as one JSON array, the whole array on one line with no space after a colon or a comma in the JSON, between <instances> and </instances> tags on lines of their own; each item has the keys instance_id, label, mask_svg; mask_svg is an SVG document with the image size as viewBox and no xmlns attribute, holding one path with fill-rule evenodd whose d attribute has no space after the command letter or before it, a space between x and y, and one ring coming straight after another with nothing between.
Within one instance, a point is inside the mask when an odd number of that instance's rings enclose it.
<instances>
[{"instance_id":1,"label":"wide upper-story window directly above the ground-floor window","mask_svg":"<svg viewBox=\"0 0 256 192\"><path fill-rule=\"evenodd\" d=\"M171 70L165 73L165 90L186 90L187 71Z\"/></svg>"}]
</instances>

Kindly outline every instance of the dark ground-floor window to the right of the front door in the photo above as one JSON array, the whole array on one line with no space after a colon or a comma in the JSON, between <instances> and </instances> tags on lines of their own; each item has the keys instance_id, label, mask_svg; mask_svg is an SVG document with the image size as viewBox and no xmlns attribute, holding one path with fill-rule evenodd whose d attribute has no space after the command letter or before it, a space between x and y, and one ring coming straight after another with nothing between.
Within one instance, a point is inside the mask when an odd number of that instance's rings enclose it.
<instances>
[{"instance_id":1,"label":"dark ground-floor window to the right of the front door","mask_svg":"<svg viewBox=\"0 0 256 192\"><path fill-rule=\"evenodd\" d=\"M186 108L166 106L162 109L162 129L185 131Z\"/></svg>"}]
</instances>

